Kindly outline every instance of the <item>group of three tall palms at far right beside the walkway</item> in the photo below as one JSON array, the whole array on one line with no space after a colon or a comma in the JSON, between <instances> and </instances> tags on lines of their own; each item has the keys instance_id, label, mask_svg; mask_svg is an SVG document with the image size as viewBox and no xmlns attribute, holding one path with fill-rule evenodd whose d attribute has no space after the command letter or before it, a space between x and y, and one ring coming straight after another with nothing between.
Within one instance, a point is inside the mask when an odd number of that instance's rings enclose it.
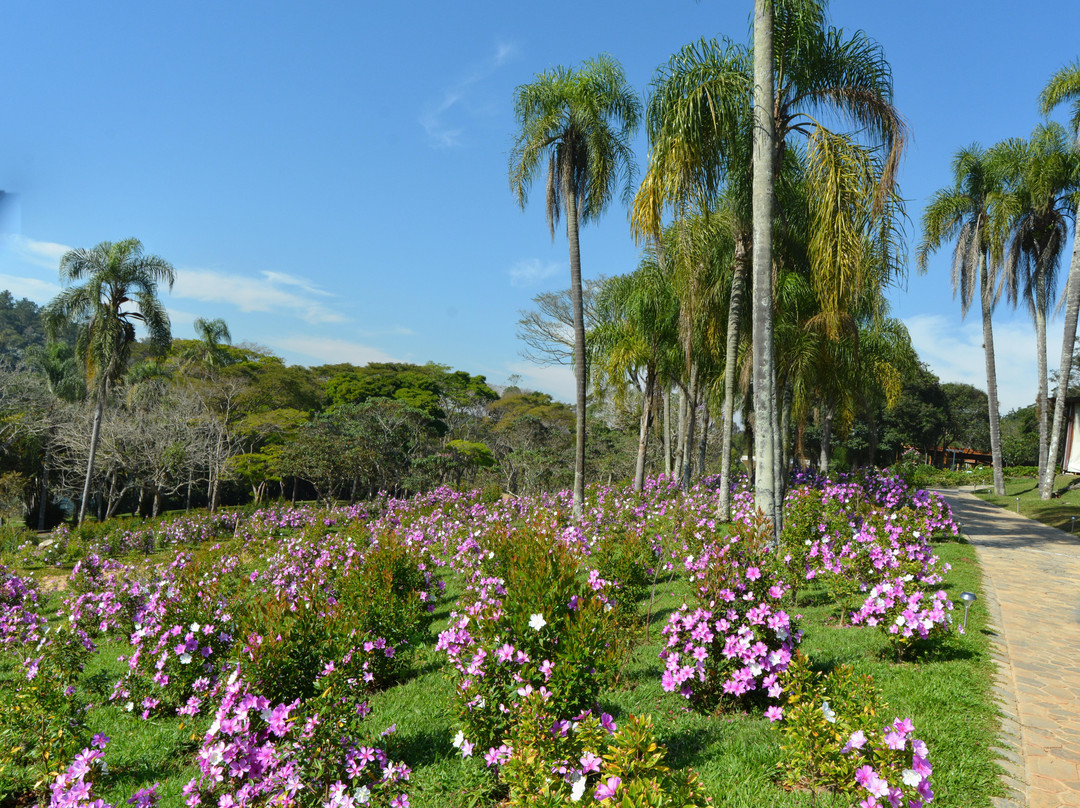
<instances>
[{"instance_id":1,"label":"group of three tall palms at far right beside the walkway","mask_svg":"<svg viewBox=\"0 0 1080 808\"><path fill-rule=\"evenodd\" d=\"M1067 250L1068 224L1080 203L1080 63L1058 70L1043 90L1043 116L1071 102L1069 133L1054 122L1040 123L1030 138L1011 138L991 148L960 149L953 161L953 186L937 191L922 215L923 241L918 266L944 243L955 241L953 289L963 313L977 292L983 320L986 383L989 398L994 487L1004 494L998 385L991 313L1002 294L1026 306L1035 322L1038 368L1039 490L1053 493L1064 427L1065 396L1071 369L1077 314L1080 311L1080 242L1074 235L1062 342L1061 382L1050 422L1047 372L1047 320L1057 298L1058 271Z\"/></svg>"}]
</instances>

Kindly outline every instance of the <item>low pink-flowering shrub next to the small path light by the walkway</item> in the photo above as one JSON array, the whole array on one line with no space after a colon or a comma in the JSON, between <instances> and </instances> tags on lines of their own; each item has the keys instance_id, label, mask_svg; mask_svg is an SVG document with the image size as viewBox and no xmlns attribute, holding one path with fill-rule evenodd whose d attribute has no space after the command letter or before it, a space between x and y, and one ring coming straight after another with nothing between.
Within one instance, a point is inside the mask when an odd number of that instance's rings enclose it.
<instances>
[{"instance_id":1,"label":"low pink-flowering shrub next to the small path light by the walkway","mask_svg":"<svg viewBox=\"0 0 1080 808\"><path fill-rule=\"evenodd\" d=\"M886 633L897 658L913 652L920 641L945 637L951 630L953 602L943 590L928 596L913 588L912 576L879 583L870 590L852 623L876 625ZM962 629L960 629L962 631Z\"/></svg>"}]
</instances>

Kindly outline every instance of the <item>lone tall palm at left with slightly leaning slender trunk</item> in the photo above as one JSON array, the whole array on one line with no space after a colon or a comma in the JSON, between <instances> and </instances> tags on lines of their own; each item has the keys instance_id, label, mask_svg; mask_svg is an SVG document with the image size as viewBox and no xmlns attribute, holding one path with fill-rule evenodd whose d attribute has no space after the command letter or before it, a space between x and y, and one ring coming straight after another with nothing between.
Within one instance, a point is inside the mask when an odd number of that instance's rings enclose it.
<instances>
[{"instance_id":1,"label":"lone tall palm at left with slightly leaning slender trunk","mask_svg":"<svg viewBox=\"0 0 1080 808\"><path fill-rule=\"evenodd\" d=\"M140 323L149 341L159 350L170 344L168 314L158 299L158 284L173 285L172 265L156 255L144 255L138 239L103 241L92 250L79 248L60 258L60 280L67 286L45 307L42 318L51 335L66 323L79 326L76 350L86 367L92 387L94 420L90 434L86 480L79 507L79 522L86 515L94 458L100 436L102 414L111 385L127 364L135 323Z\"/></svg>"}]
</instances>

